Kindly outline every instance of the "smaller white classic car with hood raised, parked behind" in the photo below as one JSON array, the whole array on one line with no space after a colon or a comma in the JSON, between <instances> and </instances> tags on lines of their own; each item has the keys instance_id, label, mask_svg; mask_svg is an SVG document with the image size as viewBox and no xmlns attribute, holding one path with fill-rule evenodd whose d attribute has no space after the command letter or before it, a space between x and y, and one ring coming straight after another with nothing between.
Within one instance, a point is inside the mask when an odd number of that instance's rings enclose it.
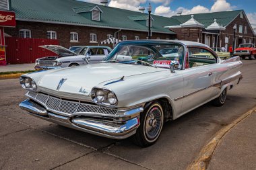
<instances>
[{"instance_id":1,"label":"smaller white classic car with hood raised, parked behind","mask_svg":"<svg viewBox=\"0 0 256 170\"><path fill-rule=\"evenodd\" d=\"M63 46L46 45L39 46L57 56L46 56L36 59L35 69L60 69L63 67L73 67L79 65L88 65L89 62L96 63L102 61L112 50L108 46L79 46L79 53L72 52Z\"/></svg>"}]
</instances>

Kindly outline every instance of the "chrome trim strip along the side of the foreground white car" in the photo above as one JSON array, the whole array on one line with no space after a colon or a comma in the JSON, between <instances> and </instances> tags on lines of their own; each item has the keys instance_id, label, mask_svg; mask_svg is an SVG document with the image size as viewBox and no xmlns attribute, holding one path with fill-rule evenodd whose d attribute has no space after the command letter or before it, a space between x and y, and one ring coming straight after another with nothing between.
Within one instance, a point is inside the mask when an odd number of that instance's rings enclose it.
<instances>
[{"instance_id":1,"label":"chrome trim strip along the side of the foreground white car","mask_svg":"<svg viewBox=\"0 0 256 170\"><path fill-rule=\"evenodd\" d=\"M203 90L205 90L205 89L209 89L210 87L219 87L219 88L221 89L223 85L226 85L227 83L230 83L231 81L234 81L234 80L236 80L236 79L239 79L239 80L238 80L238 83L239 83L239 81L241 80L241 77L242 77L241 73L238 73L238 74L236 74L236 75L233 75L232 77L229 77L228 79L223 79L222 81L220 81L219 83L216 83L216 84L214 84L214 85L210 85L210 86L208 86L208 87L205 87L205 88L203 88L203 89L199 89L199 90L194 91L194 92L192 92L192 93L189 93L189 94L187 94L187 95L183 95L183 96L181 96L181 97L177 97L177 98L174 99L174 101L178 101L178 100L183 99L183 98L185 98L185 97L189 97L190 95L193 95L193 94L195 94L195 93L199 93L200 91L203 91Z\"/></svg>"}]
</instances>

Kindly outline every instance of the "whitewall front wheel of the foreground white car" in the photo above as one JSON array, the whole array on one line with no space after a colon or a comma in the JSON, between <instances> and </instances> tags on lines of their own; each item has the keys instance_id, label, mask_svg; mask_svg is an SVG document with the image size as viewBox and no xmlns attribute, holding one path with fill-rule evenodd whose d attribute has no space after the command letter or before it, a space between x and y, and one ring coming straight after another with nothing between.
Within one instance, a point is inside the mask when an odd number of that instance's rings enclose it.
<instances>
[{"instance_id":1,"label":"whitewall front wheel of the foreground white car","mask_svg":"<svg viewBox=\"0 0 256 170\"><path fill-rule=\"evenodd\" d=\"M164 124L164 112L157 101L145 108L140 116L141 125L133 136L135 144L147 147L156 142Z\"/></svg>"}]
</instances>

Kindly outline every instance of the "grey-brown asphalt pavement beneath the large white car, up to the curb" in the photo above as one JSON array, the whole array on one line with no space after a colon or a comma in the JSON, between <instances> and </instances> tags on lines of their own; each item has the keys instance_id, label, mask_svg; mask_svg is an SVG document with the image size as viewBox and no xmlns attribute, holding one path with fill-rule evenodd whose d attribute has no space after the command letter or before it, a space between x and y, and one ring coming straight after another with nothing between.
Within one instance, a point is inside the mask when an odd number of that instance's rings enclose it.
<instances>
[{"instance_id":1,"label":"grey-brown asphalt pavement beneath the large white car, up to the curb","mask_svg":"<svg viewBox=\"0 0 256 170\"><path fill-rule=\"evenodd\" d=\"M225 105L207 103L164 125L153 146L111 140L46 122L20 110L18 79L0 80L0 169L186 169L208 140L256 105L256 60Z\"/></svg>"}]
</instances>

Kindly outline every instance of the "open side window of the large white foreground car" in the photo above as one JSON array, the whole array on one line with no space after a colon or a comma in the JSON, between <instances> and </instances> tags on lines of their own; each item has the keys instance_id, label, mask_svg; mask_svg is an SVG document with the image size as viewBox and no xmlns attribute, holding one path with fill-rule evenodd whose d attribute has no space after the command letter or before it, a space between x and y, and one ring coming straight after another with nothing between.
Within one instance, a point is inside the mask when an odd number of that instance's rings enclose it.
<instances>
[{"instance_id":1,"label":"open side window of the large white foreground car","mask_svg":"<svg viewBox=\"0 0 256 170\"><path fill-rule=\"evenodd\" d=\"M189 48L189 68L216 63L214 54L204 48Z\"/></svg>"}]
</instances>

